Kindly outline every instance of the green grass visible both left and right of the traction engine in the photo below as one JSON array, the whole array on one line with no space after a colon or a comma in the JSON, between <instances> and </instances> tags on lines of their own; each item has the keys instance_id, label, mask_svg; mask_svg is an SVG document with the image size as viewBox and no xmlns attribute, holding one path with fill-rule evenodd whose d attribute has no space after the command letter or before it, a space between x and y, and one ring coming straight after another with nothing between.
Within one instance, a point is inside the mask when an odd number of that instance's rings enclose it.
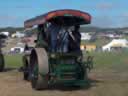
<instances>
[{"instance_id":1,"label":"green grass visible both left and right of the traction engine","mask_svg":"<svg viewBox=\"0 0 128 96\"><path fill-rule=\"evenodd\" d=\"M85 56L94 57L93 70L128 72L128 51L122 52L92 52ZM5 55L6 68L19 68L22 66L22 55Z\"/></svg>"}]
</instances>

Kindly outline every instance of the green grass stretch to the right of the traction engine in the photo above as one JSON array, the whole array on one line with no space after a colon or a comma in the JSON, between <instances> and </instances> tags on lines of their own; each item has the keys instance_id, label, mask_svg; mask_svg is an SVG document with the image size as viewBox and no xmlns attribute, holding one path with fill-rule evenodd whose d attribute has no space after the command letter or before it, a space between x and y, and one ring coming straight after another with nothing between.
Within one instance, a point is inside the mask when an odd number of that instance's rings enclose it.
<instances>
[{"instance_id":1,"label":"green grass stretch to the right of the traction engine","mask_svg":"<svg viewBox=\"0 0 128 96\"><path fill-rule=\"evenodd\" d=\"M86 55L94 56L94 69L128 72L128 52L92 52Z\"/></svg>"}]
</instances>

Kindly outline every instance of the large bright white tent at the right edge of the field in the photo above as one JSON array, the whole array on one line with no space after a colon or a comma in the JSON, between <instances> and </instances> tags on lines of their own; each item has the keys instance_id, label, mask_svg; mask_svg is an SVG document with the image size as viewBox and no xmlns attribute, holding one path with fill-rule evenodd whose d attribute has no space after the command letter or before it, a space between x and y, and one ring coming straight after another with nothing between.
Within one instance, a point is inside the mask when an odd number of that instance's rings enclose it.
<instances>
[{"instance_id":1,"label":"large bright white tent at the right edge of the field","mask_svg":"<svg viewBox=\"0 0 128 96\"><path fill-rule=\"evenodd\" d=\"M113 39L110 43L104 45L102 50L111 51L114 48L128 48L128 41L126 39Z\"/></svg>"}]
</instances>

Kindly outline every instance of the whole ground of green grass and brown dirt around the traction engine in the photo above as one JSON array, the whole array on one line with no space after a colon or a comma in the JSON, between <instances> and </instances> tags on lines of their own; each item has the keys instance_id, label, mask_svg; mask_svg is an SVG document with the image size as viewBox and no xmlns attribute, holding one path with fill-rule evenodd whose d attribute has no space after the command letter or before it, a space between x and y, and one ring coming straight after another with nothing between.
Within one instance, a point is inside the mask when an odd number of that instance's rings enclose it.
<instances>
[{"instance_id":1,"label":"whole ground of green grass and brown dirt around the traction engine","mask_svg":"<svg viewBox=\"0 0 128 96\"><path fill-rule=\"evenodd\" d=\"M22 79L22 74L13 70L0 73L0 96L128 96L128 52L93 52L88 55L94 56L88 89L34 91L30 83ZM8 68L22 65L21 55L6 55L5 59Z\"/></svg>"}]
</instances>

